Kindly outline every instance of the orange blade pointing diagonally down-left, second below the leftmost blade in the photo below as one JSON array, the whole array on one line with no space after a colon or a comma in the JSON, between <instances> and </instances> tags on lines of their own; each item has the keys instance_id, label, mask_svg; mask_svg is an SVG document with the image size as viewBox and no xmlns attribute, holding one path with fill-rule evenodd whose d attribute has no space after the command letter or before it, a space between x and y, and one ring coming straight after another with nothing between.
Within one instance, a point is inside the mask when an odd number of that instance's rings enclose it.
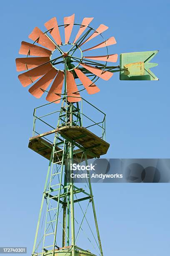
<instances>
[{"instance_id":1,"label":"orange blade pointing diagonally down-left, second below the leftmost blade","mask_svg":"<svg viewBox=\"0 0 170 256\"><path fill-rule=\"evenodd\" d=\"M50 85L52 80L57 74L57 70L52 68L47 74L45 74L40 80L38 80L30 89L28 90L34 97L40 98L44 93L44 90Z\"/></svg>"}]
</instances>

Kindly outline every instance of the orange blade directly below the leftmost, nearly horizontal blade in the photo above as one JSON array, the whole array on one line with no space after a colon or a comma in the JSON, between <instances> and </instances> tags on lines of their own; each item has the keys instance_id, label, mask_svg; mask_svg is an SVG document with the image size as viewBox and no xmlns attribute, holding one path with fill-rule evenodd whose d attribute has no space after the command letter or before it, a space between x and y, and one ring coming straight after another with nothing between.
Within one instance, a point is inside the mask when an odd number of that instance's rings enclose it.
<instances>
[{"instance_id":1,"label":"orange blade directly below the leftmost, nearly horizontal blade","mask_svg":"<svg viewBox=\"0 0 170 256\"><path fill-rule=\"evenodd\" d=\"M18 79L20 80L23 87L26 87L29 84L32 84L38 78L42 77L42 75L46 74L48 71L50 71L50 69L52 69L52 65L50 63L47 63L31 69L23 74L20 74L18 76Z\"/></svg>"}]
</instances>

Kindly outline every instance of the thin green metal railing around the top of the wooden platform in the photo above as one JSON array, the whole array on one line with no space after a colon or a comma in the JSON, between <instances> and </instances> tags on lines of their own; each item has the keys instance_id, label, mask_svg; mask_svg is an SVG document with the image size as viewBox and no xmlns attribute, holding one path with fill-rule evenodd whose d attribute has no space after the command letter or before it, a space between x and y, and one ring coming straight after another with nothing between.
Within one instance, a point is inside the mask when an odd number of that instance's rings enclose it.
<instances>
[{"instance_id":1,"label":"thin green metal railing around the top of the wooden platform","mask_svg":"<svg viewBox=\"0 0 170 256\"><path fill-rule=\"evenodd\" d=\"M70 96L69 96L70 97ZM67 96L61 98L62 99L66 99L66 102L67 102ZM39 135L40 134L40 131L37 131L37 121L39 122L42 122L43 125L47 126L48 130L50 129L53 129L55 130L56 129L56 126L54 125L51 125L50 123L47 122L47 120L45 120L45 118L51 116L51 115L57 115L58 118L59 118L59 115L60 115L60 112L61 110L56 110L56 111L51 111L50 113L46 113L44 115L39 115L38 114L38 111L39 110L42 110L42 108L46 108L48 106L55 106L55 104L51 105L52 103L54 102L57 102L58 100L55 100L53 102L49 102L49 103L46 103L44 105L41 105L41 106L38 106L37 108L34 109L34 113L33 113L33 131L32 131L32 136L36 136L36 135ZM85 103L87 105L89 105L90 107L93 108L93 111L95 111L92 115L92 117L88 116L86 113L85 113L85 110L83 110L83 106L85 105ZM56 105L57 106L57 105ZM76 114L76 115L80 115L80 118L81 118L81 124L79 126L82 126L82 127L85 127L87 128L88 130L90 130L91 128L98 128L99 129L99 132L96 131L96 135L100 138L102 138L103 140L105 140L105 136L106 136L106 129L105 129L105 118L106 118L106 115L104 112L102 112L99 108L95 107L94 105L92 105L90 102L88 102L87 100L85 100L84 98L81 98L81 101L79 102L79 109L80 111L77 111L77 112L70 112L67 110L67 108L65 107L65 111L62 109L62 113L63 115L65 115L65 125L67 125L67 115L68 114ZM100 120L94 120L95 119L95 115L96 114L99 114L101 115L100 116ZM55 117L55 121L56 121L56 117ZM86 124L87 123L87 120L88 122L88 125ZM39 124L40 125L40 124Z\"/></svg>"}]
</instances>

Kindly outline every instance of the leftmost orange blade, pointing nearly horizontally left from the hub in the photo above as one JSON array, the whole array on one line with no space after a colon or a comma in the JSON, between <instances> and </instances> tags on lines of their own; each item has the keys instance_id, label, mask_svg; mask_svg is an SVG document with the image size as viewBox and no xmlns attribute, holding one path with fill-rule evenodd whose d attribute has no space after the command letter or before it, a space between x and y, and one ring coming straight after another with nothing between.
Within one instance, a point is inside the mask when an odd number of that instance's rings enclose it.
<instances>
[{"instance_id":1,"label":"leftmost orange blade, pointing nearly horizontally left from the hub","mask_svg":"<svg viewBox=\"0 0 170 256\"><path fill-rule=\"evenodd\" d=\"M31 57L31 58L17 58L16 60L17 71L24 71L38 67L50 61L49 57Z\"/></svg>"}]
</instances>

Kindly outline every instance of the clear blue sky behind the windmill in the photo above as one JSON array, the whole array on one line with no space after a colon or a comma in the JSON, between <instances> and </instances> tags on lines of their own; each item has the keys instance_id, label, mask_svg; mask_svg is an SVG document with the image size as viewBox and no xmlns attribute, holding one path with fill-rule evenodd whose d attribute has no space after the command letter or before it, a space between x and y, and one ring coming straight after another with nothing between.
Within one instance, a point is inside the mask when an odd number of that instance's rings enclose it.
<instances>
[{"instance_id":1,"label":"clear blue sky behind the windmill","mask_svg":"<svg viewBox=\"0 0 170 256\"><path fill-rule=\"evenodd\" d=\"M75 13L94 17L115 36L110 54L160 50L159 81L98 80L86 99L107 115L107 158L170 158L170 30L168 0L3 1L1 3L0 246L27 246L31 254L47 161L28 149L37 100L18 80L15 58L35 26ZM59 108L59 106L57 106ZM93 115L94 113L91 113ZM93 184L104 255L169 255L169 184Z\"/></svg>"}]
</instances>

